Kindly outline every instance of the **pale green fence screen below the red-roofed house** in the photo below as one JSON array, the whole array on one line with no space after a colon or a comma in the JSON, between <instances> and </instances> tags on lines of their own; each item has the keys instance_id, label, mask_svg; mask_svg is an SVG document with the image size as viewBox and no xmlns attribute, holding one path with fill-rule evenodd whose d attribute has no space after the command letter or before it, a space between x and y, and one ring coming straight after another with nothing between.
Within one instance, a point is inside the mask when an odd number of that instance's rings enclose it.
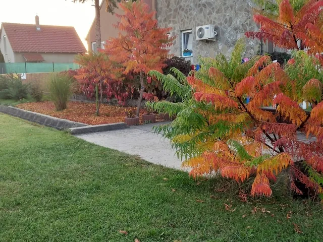
<instances>
[{"instance_id":1,"label":"pale green fence screen below the red-roofed house","mask_svg":"<svg viewBox=\"0 0 323 242\"><path fill-rule=\"evenodd\" d=\"M0 63L0 74L62 72L79 68L75 63Z\"/></svg>"}]
</instances>

